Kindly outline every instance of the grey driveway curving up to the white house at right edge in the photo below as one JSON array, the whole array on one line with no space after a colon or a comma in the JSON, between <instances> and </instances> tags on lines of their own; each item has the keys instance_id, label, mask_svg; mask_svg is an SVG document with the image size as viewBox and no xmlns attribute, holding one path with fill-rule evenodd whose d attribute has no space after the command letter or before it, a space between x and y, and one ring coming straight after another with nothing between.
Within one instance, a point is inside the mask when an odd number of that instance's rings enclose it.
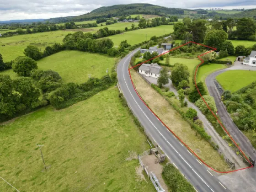
<instances>
[{"instance_id":1,"label":"grey driveway curving up to the white house at right edge","mask_svg":"<svg viewBox=\"0 0 256 192\"><path fill-rule=\"evenodd\" d=\"M252 147L250 141L245 137L245 135L237 128L229 113L226 110L223 102L220 99L219 92L214 84L214 79L217 75L224 73L228 70L256 70L256 67L250 67L241 65L240 62L235 62L234 66L216 71L210 75L208 75L205 79L205 84L208 88L210 96L214 97L216 107L218 109L218 114L220 119L222 120L224 126L229 131L231 137L235 140L236 143L239 143L240 149L242 149L247 155L249 155L253 160L256 160L256 150ZM235 78L235 77L234 77Z\"/></svg>"}]
</instances>

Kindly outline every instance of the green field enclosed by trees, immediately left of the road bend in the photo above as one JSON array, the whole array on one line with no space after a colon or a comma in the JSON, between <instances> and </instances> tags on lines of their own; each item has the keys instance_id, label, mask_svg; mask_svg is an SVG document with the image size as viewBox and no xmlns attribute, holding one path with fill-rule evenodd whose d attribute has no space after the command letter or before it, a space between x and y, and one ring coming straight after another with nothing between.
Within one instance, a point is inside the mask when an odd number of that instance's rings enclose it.
<instances>
[{"instance_id":1,"label":"green field enclosed by trees, immediately left of the road bend","mask_svg":"<svg viewBox=\"0 0 256 192\"><path fill-rule=\"evenodd\" d=\"M91 77L101 78L107 75L117 58L107 57L97 53L81 51L61 51L37 61L38 69L57 71L64 82L84 83ZM18 77L12 69L0 72L10 75L12 79Z\"/></svg>"}]
</instances>

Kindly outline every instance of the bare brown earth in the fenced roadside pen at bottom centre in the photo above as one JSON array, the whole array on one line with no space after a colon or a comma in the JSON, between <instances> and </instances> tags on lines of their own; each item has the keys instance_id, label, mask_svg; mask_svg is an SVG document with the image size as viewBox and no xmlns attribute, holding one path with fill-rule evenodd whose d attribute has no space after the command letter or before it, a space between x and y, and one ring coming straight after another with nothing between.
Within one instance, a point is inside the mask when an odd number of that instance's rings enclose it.
<instances>
[{"instance_id":1,"label":"bare brown earth in the fenced roadside pen at bottom centre","mask_svg":"<svg viewBox=\"0 0 256 192\"><path fill-rule=\"evenodd\" d=\"M162 178L162 172L163 172L163 165L160 165L159 163L155 164L155 159L157 157L152 155L144 155L142 156L141 160L144 164L144 166L147 168L147 170L153 171L155 173L155 176L157 177L158 181L160 182L160 185L164 188L166 192L168 192L168 187L165 184L165 181Z\"/></svg>"}]
</instances>

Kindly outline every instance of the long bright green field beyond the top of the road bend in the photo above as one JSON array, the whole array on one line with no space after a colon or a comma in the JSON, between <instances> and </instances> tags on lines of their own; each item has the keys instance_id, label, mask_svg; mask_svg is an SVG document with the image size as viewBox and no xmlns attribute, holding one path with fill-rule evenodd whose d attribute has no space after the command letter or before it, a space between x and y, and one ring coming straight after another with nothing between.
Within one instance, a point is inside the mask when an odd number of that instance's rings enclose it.
<instances>
[{"instance_id":1,"label":"long bright green field beyond the top of the road bend","mask_svg":"<svg viewBox=\"0 0 256 192\"><path fill-rule=\"evenodd\" d=\"M139 29L135 31L124 32L114 36L110 36L115 46L118 46L123 40L131 45L141 43L145 40L149 40L153 36L162 36L173 32L173 25L161 25L158 27Z\"/></svg>"}]
</instances>

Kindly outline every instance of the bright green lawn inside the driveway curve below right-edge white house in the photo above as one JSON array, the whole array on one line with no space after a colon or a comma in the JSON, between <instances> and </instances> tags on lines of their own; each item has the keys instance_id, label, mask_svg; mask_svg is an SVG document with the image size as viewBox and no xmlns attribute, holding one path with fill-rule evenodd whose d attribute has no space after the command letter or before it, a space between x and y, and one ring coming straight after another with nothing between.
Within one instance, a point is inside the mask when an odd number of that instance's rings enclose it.
<instances>
[{"instance_id":1,"label":"bright green lawn inside the driveway curve below right-edge white house","mask_svg":"<svg viewBox=\"0 0 256 192\"><path fill-rule=\"evenodd\" d=\"M237 91L256 80L256 71L232 70L216 77L224 90Z\"/></svg>"}]
</instances>

